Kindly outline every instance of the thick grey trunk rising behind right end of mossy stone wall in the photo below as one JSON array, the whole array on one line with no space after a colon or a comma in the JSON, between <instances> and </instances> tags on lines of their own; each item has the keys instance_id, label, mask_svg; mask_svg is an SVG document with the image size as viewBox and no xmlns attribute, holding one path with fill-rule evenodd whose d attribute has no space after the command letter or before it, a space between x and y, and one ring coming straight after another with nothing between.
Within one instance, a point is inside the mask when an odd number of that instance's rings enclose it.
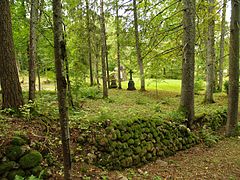
<instances>
[{"instance_id":1,"label":"thick grey trunk rising behind right end of mossy stone wall","mask_svg":"<svg viewBox=\"0 0 240 180\"><path fill-rule=\"evenodd\" d=\"M194 117L194 64L195 64L195 11L196 1L184 0L183 11L183 60L180 108L186 112L187 126Z\"/></svg>"}]
</instances>

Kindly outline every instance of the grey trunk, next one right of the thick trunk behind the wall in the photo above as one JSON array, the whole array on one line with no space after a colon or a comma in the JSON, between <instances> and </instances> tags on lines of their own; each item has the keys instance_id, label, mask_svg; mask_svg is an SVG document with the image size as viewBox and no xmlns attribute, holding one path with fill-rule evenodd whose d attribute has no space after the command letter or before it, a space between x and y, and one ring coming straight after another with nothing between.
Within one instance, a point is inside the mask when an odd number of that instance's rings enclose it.
<instances>
[{"instance_id":1,"label":"grey trunk, next one right of the thick trunk behind the wall","mask_svg":"<svg viewBox=\"0 0 240 180\"><path fill-rule=\"evenodd\" d=\"M214 48L214 0L209 2L209 22L208 22L208 42L207 42L207 79L206 79L206 94L205 103L213 103L214 80L215 80L215 48Z\"/></svg>"}]
</instances>

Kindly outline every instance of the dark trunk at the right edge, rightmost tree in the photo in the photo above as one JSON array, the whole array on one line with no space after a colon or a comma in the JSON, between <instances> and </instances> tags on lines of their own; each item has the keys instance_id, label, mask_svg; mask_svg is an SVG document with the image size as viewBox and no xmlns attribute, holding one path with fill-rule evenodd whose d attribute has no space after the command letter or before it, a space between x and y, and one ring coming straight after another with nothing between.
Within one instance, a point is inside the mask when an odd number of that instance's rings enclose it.
<instances>
[{"instance_id":1,"label":"dark trunk at the right edge, rightmost tree in the photo","mask_svg":"<svg viewBox=\"0 0 240 180\"><path fill-rule=\"evenodd\" d=\"M227 119L227 135L229 136L235 135L238 122L240 0L232 0L231 4Z\"/></svg>"}]
</instances>

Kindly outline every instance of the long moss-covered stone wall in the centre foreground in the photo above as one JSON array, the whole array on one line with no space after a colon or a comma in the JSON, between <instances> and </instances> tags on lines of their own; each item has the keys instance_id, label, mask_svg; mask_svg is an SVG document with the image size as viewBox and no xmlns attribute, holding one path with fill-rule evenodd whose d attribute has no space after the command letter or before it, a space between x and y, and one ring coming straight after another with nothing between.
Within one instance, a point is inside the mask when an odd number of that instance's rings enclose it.
<instances>
[{"instance_id":1,"label":"long moss-covered stone wall in the centre foreground","mask_svg":"<svg viewBox=\"0 0 240 180\"><path fill-rule=\"evenodd\" d=\"M190 148L199 141L186 126L161 119L103 123L97 130L90 127L86 133L81 142L96 147L95 164L108 169L140 166Z\"/></svg>"}]
</instances>

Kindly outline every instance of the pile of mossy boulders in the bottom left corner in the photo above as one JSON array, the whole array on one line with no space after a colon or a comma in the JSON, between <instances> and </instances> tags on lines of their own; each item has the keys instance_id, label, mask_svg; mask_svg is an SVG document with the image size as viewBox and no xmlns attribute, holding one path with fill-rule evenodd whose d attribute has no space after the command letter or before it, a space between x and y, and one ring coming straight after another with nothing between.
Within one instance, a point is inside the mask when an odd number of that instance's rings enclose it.
<instances>
[{"instance_id":1,"label":"pile of mossy boulders in the bottom left corner","mask_svg":"<svg viewBox=\"0 0 240 180\"><path fill-rule=\"evenodd\" d=\"M15 179L15 176L29 177L39 176L42 155L40 152L29 147L27 137L14 136L10 144L4 148L5 152L0 158L0 178Z\"/></svg>"}]
</instances>

